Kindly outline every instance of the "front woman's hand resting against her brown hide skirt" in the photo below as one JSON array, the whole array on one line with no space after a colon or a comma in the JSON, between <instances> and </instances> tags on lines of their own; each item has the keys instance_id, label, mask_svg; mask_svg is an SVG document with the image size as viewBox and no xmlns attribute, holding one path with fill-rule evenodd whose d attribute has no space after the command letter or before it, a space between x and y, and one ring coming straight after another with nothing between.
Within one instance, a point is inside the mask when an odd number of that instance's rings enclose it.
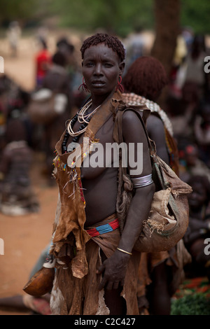
<instances>
[{"instance_id":1,"label":"front woman's hand resting against her brown hide skirt","mask_svg":"<svg viewBox=\"0 0 210 329\"><path fill-rule=\"evenodd\" d=\"M97 274L104 273L99 290L105 287L107 290L112 290L117 289L119 285L123 286L129 260L130 255L118 250L110 258L104 260L103 264L97 269Z\"/></svg>"}]
</instances>

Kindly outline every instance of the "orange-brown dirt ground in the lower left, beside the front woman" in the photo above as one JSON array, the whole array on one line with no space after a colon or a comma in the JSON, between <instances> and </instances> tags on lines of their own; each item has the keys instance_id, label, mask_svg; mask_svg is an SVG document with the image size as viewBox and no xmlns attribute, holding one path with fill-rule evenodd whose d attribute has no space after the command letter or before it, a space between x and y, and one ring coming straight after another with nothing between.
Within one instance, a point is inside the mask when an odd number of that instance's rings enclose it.
<instances>
[{"instance_id":1,"label":"orange-brown dirt ground in the lower left, beside the front woman","mask_svg":"<svg viewBox=\"0 0 210 329\"><path fill-rule=\"evenodd\" d=\"M4 241L4 255L0 255L0 297L25 294L22 288L41 251L50 242L52 221L57 203L57 186L48 187L41 177L38 163L34 163L31 179L40 202L40 211L25 216L0 214L0 236ZM2 314L18 312L1 311Z\"/></svg>"}]
</instances>

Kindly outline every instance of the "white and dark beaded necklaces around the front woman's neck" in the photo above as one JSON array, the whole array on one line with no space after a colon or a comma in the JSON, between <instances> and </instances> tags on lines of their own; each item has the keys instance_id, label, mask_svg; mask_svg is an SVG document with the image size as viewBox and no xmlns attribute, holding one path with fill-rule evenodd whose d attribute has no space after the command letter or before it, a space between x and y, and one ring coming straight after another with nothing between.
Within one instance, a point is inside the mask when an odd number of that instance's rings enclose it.
<instances>
[{"instance_id":1,"label":"white and dark beaded necklaces around the front woman's neck","mask_svg":"<svg viewBox=\"0 0 210 329\"><path fill-rule=\"evenodd\" d=\"M99 109L99 106L100 106L100 105L97 106L97 108L94 109L94 111L92 111L91 113L85 113L87 111L87 109L90 108L91 105L92 105L92 101L90 100L70 120L69 125L67 126L67 129L66 129L66 132L64 134L64 140L62 142L62 153L66 153L67 151L72 152L76 148L76 144L77 144L77 141L78 141L80 135L83 134L83 132L85 132L85 130L87 130L87 125L90 123L90 119L92 118L94 113L97 112L97 110ZM82 125L80 125L77 132L73 132L73 125L76 123L77 120L79 123L82 123ZM69 136L73 137L73 139L67 148L66 144L69 139Z\"/></svg>"}]
</instances>

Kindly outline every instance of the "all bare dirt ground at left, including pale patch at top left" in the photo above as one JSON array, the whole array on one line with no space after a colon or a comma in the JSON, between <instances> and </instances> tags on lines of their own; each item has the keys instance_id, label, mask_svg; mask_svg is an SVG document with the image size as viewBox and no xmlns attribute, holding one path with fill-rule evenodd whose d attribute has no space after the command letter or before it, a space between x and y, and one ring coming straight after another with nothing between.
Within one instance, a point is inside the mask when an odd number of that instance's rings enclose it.
<instances>
[{"instance_id":1,"label":"all bare dirt ground at left, including pale patch at top left","mask_svg":"<svg viewBox=\"0 0 210 329\"><path fill-rule=\"evenodd\" d=\"M0 39L0 55L4 59L4 73L25 90L34 87L34 38L23 38L17 58L8 55L6 39ZM0 214L0 238L4 242L4 254L0 255L0 298L24 294L22 288L41 251L50 242L52 222L57 204L57 186L48 187L42 175L43 159L34 155L31 181L40 211L25 216ZM0 310L0 315L23 314Z\"/></svg>"}]
</instances>

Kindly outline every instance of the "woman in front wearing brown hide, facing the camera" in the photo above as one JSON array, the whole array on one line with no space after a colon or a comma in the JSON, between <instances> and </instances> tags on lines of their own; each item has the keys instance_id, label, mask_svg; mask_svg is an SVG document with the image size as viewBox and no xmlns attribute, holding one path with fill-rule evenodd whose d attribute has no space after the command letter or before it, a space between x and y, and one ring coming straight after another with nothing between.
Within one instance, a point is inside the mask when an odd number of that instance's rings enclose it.
<instances>
[{"instance_id":1,"label":"woman in front wearing brown hide, facing the camera","mask_svg":"<svg viewBox=\"0 0 210 329\"><path fill-rule=\"evenodd\" d=\"M149 176L144 187L135 189L120 232L116 216L118 167L113 156L109 158L105 152L114 143L116 113L124 104L117 89L125 49L118 38L96 34L84 41L81 54L83 87L91 97L67 123L54 162L59 201L51 248L57 268L52 314L139 314L136 287L140 254L133 247L148 218L154 183ZM134 146L133 160L137 160L137 144L143 144L143 170L141 174L133 171L131 176L137 181L140 178L141 186L144 176L151 175L151 160L136 113L125 112L122 129L126 146ZM102 152L98 154L95 146ZM102 157L99 160L103 159L104 165L103 161L95 165L96 155ZM134 167L129 162L128 173Z\"/></svg>"}]
</instances>

